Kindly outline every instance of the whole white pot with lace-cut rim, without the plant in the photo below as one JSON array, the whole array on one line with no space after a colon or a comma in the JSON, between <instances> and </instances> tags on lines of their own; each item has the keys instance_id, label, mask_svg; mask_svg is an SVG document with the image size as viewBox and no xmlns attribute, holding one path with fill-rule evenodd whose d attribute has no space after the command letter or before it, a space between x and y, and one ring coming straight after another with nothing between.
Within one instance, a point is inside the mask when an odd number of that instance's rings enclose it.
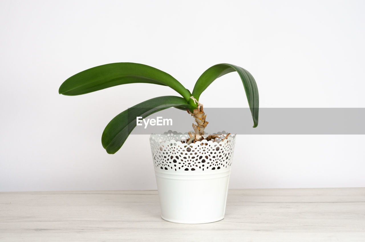
<instances>
[{"instance_id":1,"label":"whole white pot with lace-cut rim, without the plant","mask_svg":"<svg viewBox=\"0 0 365 242\"><path fill-rule=\"evenodd\" d=\"M187 133L172 131L150 136L161 217L189 224L221 220L236 136L223 141L181 143L188 137Z\"/></svg>"}]
</instances>

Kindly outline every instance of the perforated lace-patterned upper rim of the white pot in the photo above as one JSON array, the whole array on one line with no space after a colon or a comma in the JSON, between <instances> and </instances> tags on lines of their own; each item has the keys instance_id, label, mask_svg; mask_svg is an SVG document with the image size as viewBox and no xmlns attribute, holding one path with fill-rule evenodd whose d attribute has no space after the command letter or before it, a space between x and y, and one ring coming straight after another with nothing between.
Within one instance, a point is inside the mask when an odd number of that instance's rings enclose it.
<instances>
[{"instance_id":1,"label":"perforated lace-patterned upper rim of the white pot","mask_svg":"<svg viewBox=\"0 0 365 242\"><path fill-rule=\"evenodd\" d=\"M227 133L222 131L214 134ZM168 131L162 135L151 134L150 144L155 171L186 174L218 173L231 169L236 135L229 135L223 141L204 139L192 144L181 142L188 138L188 133L176 131Z\"/></svg>"}]
</instances>

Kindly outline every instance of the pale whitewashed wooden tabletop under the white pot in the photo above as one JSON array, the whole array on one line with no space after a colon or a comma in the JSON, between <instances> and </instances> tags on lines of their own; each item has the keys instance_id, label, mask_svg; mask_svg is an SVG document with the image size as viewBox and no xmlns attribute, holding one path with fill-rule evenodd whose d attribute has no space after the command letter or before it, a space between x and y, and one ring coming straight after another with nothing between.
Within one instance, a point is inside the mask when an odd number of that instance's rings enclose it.
<instances>
[{"instance_id":1,"label":"pale whitewashed wooden tabletop under the white pot","mask_svg":"<svg viewBox=\"0 0 365 242\"><path fill-rule=\"evenodd\" d=\"M226 217L162 220L157 191L1 192L0 241L365 241L365 188L230 190Z\"/></svg>"}]
</instances>

